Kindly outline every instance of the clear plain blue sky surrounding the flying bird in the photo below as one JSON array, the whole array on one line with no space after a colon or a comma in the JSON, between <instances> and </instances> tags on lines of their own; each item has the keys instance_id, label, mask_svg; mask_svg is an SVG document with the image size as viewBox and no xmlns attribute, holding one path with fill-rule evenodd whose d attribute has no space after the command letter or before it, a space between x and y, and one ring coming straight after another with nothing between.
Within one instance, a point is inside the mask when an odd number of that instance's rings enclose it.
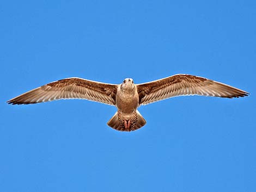
<instances>
[{"instance_id":1,"label":"clear plain blue sky surrounding the flying bird","mask_svg":"<svg viewBox=\"0 0 256 192\"><path fill-rule=\"evenodd\" d=\"M255 1L5 1L1 16L0 191L255 191ZM5 101L54 80L119 84L176 73L251 93L116 109Z\"/></svg>"}]
</instances>

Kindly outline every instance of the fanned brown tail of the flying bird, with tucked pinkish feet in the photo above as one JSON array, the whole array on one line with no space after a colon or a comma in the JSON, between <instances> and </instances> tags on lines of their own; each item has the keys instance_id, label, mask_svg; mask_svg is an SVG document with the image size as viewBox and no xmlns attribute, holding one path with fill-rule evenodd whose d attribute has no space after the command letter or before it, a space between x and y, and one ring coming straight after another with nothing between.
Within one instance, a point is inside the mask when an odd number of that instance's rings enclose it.
<instances>
[{"instance_id":1,"label":"fanned brown tail of the flying bird, with tucked pinkish feet","mask_svg":"<svg viewBox=\"0 0 256 192\"><path fill-rule=\"evenodd\" d=\"M132 115L122 115L120 112L116 112L114 116L107 122L109 127L118 131L135 131L143 127L147 122L143 116L136 110L136 113Z\"/></svg>"}]
</instances>

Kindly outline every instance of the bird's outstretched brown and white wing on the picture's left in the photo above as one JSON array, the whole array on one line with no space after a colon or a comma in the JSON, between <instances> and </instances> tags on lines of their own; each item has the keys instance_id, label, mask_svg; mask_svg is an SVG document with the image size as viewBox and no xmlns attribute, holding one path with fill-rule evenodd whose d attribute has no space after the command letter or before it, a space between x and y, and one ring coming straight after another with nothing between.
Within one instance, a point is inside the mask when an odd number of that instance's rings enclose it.
<instances>
[{"instance_id":1,"label":"bird's outstretched brown and white wing on the picture's left","mask_svg":"<svg viewBox=\"0 0 256 192\"><path fill-rule=\"evenodd\" d=\"M31 104L80 98L115 105L117 85L81 78L66 78L48 83L7 101L9 104Z\"/></svg>"}]
</instances>

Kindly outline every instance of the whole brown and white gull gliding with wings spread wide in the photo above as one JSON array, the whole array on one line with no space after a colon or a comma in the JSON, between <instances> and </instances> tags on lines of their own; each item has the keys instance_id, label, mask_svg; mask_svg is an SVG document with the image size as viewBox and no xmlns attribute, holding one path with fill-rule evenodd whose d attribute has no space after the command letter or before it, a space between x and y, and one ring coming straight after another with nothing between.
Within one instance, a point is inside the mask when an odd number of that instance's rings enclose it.
<instances>
[{"instance_id":1,"label":"whole brown and white gull gliding with wings spread wide","mask_svg":"<svg viewBox=\"0 0 256 192\"><path fill-rule=\"evenodd\" d=\"M146 124L137 108L169 97L202 95L244 97L249 93L227 84L192 75L174 75L153 82L134 84L126 78L121 84L100 83L82 78L66 78L42 85L7 101L9 104L32 104L78 98L117 107L107 125L118 131L135 131Z\"/></svg>"}]
</instances>

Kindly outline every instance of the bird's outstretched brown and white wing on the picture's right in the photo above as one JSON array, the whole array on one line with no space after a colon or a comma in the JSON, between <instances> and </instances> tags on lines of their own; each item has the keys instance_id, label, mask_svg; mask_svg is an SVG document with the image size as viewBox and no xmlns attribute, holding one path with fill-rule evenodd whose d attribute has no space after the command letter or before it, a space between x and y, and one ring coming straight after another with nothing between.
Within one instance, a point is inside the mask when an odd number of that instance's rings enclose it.
<instances>
[{"instance_id":1,"label":"bird's outstretched brown and white wing on the picture's right","mask_svg":"<svg viewBox=\"0 0 256 192\"><path fill-rule=\"evenodd\" d=\"M214 80L192 75L174 75L153 82L137 84L139 104L149 104L181 95L244 97L248 92Z\"/></svg>"}]
</instances>

